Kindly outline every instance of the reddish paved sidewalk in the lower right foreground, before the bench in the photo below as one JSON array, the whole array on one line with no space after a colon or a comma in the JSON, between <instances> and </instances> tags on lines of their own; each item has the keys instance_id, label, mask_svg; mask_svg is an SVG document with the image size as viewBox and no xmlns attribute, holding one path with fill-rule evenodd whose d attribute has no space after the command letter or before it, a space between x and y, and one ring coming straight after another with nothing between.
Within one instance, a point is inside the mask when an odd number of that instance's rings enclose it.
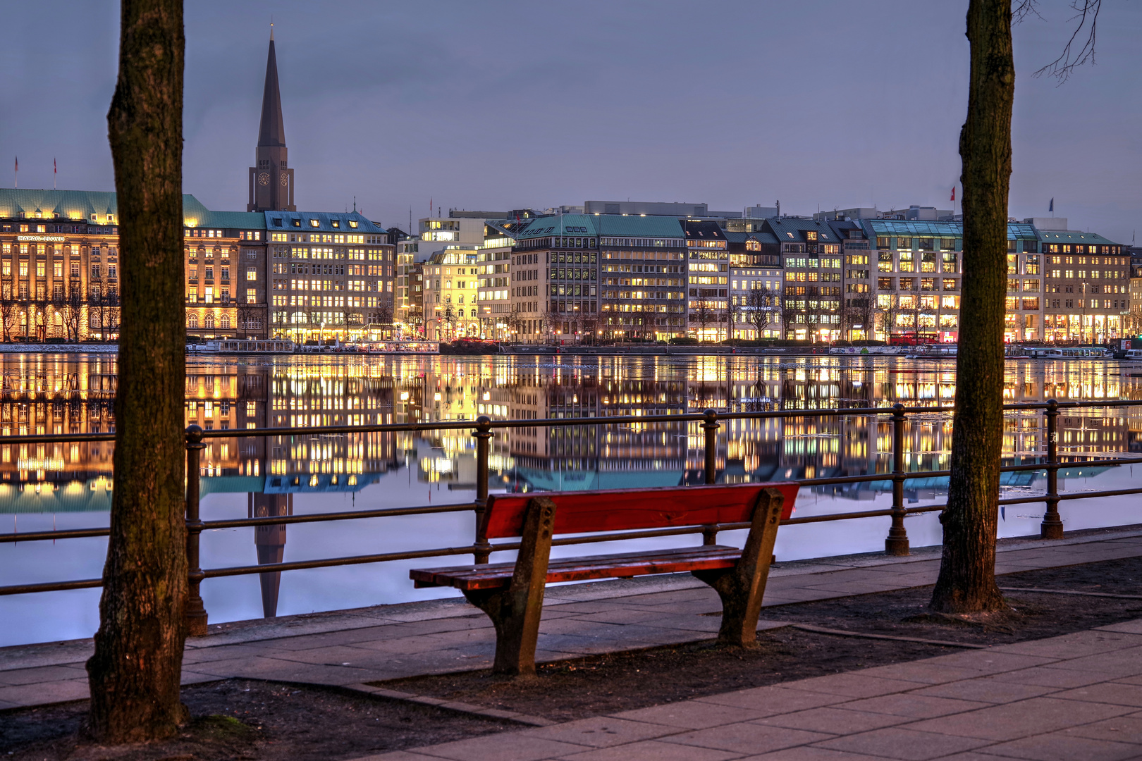
<instances>
[{"instance_id":1,"label":"reddish paved sidewalk in the lower right foreground, before the bench","mask_svg":"<svg viewBox=\"0 0 1142 761\"><path fill-rule=\"evenodd\" d=\"M359 761L1142 758L1142 618Z\"/></svg>"}]
</instances>

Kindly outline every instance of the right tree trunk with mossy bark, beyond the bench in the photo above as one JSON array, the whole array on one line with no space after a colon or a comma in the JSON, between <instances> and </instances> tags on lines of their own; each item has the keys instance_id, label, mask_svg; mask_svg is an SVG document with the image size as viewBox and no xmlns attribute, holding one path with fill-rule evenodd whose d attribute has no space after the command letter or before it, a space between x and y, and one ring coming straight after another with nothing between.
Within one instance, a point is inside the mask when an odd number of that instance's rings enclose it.
<instances>
[{"instance_id":1,"label":"right tree trunk with mossy bark, beyond the bench","mask_svg":"<svg viewBox=\"0 0 1142 761\"><path fill-rule=\"evenodd\" d=\"M956 413L943 557L932 593L942 613L998 610L995 581L1003 450L1003 334L1007 294L1007 186L1015 95L1011 0L971 0L967 120L959 135L964 283L956 355Z\"/></svg>"}]
</instances>

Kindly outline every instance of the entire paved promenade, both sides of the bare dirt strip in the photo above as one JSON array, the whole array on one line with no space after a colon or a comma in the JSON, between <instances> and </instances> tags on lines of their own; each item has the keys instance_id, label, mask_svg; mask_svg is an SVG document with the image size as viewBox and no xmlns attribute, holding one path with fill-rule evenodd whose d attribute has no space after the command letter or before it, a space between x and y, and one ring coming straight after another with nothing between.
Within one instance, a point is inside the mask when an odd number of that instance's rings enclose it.
<instances>
[{"instance_id":1,"label":"entire paved promenade, both sides of the bare dirt strip","mask_svg":"<svg viewBox=\"0 0 1142 761\"><path fill-rule=\"evenodd\" d=\"M1004 540L997 572L1137 556L1139 527ZM765 604L920 586L938 568L939 548L780 564ZM687 575L550 588L538 657L713 638L718 618L702 614L717 610L716 594ZM763 629L786 625L762 615ZM240 677L378 691L364 682L486 667L493 648L488 618L463 600L378 606L211 626L187 641L184 681ZM0 649L0 709L87 697L90 649L90 640ZM778 754L758 755L770 751ZM373 758L844 761L954 753L966 753L952 756L965 761L1142 758L1142 622Z\"/></svg>"}]
</instances>

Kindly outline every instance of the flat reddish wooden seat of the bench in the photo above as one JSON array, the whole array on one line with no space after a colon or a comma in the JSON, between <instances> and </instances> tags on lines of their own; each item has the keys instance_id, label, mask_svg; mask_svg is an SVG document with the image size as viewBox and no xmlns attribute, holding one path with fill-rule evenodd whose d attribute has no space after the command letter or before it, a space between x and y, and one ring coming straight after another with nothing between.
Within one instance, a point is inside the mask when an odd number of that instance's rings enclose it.
<instances>
[{"instance_id":1,"label":"flat reddish wooden seat of the bench","mask_svg":"<svg viewBox=\"0 0 1142 761\"><path fill-rule=\"evenodd\" d=\"M740 557L741 550L735 547L713 545L561 558L553 559L548 564L547 583L732 568ZM409 576L417 582L417 586L452 586L471 591L507 586L514 572L514 562L497 562L450 568L419 568L409 572Z\"/></svg>"}]
</instances>

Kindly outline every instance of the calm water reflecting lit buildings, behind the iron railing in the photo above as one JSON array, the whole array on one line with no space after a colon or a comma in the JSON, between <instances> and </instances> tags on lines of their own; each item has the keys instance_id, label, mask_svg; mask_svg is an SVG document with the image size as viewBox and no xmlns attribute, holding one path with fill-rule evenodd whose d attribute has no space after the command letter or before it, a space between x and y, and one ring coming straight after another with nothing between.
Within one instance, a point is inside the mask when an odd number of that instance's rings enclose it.
<instances>
[{"instance_id":1,"label":"calm water reflecting lit buildings, behind the iron railing","mask_svg":"<svg viewBox=\"0 0 1142 761\"><path fill-rule=\"evenodd\" d=\"M248 427L592 418L718 410L805 410L786 421L731 421L718 440L719 480L729 483L885 472L891 431L853 415L819 420L814 407L950 404L954 362L902 357L267 357L188 361L187 423L235 432ZM0 435L113 430L115 359L105 356L0 356ZM1142 399L1142 364L1007 364L1013 402ZM947 467L950 416L917 416L908 435L914 470ZM492 491L666 486L701 479L697 424L525 428L497 432ZM1084 468L1092 458L1142 451L1142 407L1061 416L1061 452L1075 460L1068 492L1124 488L1133 468ZM1044 451L1039 415L1008 420L1010 462ZM203 459L202 515L220 519L469 501L474 442L466 431L214 439ZM1140 471L1142 476L1142 471ZM1005 494L1043 491L1036 473L1005 479ZM0 439L0 532L105 526L113 488L111 446L16 447ZM803 489L797 515L887 507L887 481ZM909 483L911 504L939 503L946 484ZM1004 511L1000 535L1038 531L1042 505ZM1135 497L1061 507L1070 529L1139 523ZM887 518L788 526L779 560L882 550ZM365 554L469 543L469 513L410 516L288 528L203 534L203 567ZM935 515L908 519L914 547L940 541ZM721 541L733 543L732 533ZM695 537L676 537L690 544ZM662 545L662 541L657 541ZM632 542L624 549L637 549ZM106 541L0 544L0 584L96 577ZM614 551L597 544L589 551ZM582 550L557 548L564 554ZM496 559L496 558L493 558ZM506 558L505 558L506 559ZM400 602L448 594L413 590L410 567L465 558L293 570L209 580L212 623ZM0 645L90 635L98 590L0 597Z\"/></svg>"}]
</instances>

